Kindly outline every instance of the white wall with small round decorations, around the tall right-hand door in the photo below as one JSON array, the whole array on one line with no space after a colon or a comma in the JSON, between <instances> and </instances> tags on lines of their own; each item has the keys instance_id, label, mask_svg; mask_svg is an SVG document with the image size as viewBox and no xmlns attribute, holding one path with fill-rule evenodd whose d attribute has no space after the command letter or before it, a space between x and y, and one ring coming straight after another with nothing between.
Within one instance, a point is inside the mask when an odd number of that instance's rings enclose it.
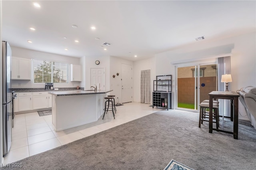
<instances>
[{"instance_id":1,"label":"white wall with small round decorations, around the tall right-hand door","mask_svg":"<svg viewBox=\"0 0 256 170\"><path fill-rule=\"evenodd\" d=\"M119 100L119 103L122 103L122 81L121 81L122 63L132 65L132 68L133 68L133 61L128 61L126 59L110 56L109 78L110 78L110 89L113 90L110 92L110 94L116 96L115 97L116 103L118 102L118 100ZM119 73L119 76L117 76L116 73ZM113 75L116 75L116 77L113 78ZM133 95L133 98L134 98L134 95Z\"/></svg>"}]
</instances>

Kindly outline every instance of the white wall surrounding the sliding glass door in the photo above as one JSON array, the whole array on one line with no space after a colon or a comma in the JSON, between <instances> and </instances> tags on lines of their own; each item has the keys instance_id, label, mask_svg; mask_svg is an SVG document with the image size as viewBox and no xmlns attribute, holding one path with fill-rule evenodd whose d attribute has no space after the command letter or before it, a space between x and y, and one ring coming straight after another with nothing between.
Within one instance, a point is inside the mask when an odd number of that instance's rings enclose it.
<instances>
[{"instance_id":1,"label":"white wall surrounding the sliding glass door","mask_svg":"<svg viewBox=\"0 0 256 170\"><path fill-rule=\"evenodd\" d=\"M222 53L232 53L231 56L231 75L232 83L230 90L236 91L241 87L256 86L256 32L244 34L221 40L195 42L190 45L156 54L156 75L166 72L174 75L175 66L170 64L172 61L186 60L192 58L204 58L210 55ZM173 85L176 84L176 77L173 76ZM175 87L175 86L173 86ZM174 89L174 88L173 88ZM173 90L172 99L174 99ZM172 100L173 101L173 100ZM174 104L174 103L172 103ZM174 105L172 105L174 107ZM243 105L239 102L239 112L246 115ZM243 119L243 117L240 117Z\"/></svg>"}]
</instances>

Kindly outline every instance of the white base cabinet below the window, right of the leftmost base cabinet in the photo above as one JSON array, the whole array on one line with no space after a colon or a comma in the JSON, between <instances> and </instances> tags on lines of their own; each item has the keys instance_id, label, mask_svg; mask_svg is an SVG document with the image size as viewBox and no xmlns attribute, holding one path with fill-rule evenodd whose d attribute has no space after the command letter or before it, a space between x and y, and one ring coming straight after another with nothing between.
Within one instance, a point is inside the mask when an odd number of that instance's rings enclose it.
<instances>
[{"instance_id":1,"label":"white base cabinet below the window, right of the leftmost base cabinet","mask_svg":"<svg viewBox=\"0 0 256 170\"><path fill-rule=\"evenodd\" d=\"M33 92L33 110L48 108L48 92Z\"/></svg>"}]
</instances>

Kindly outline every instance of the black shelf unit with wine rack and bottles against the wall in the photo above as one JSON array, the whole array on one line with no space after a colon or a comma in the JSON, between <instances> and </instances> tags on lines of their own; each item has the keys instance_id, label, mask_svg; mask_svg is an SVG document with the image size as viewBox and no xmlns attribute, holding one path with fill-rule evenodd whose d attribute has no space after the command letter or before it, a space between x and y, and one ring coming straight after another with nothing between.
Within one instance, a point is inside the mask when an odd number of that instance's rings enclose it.
<instances>
[{"instance_id":1,"label":"black shelf unit with wine rack and bottles against the wall","mask_svg":"<svg viewBox=\"0 0 256 170\"><path fill-rule=\"evenodd\" d=\"M171 108L172 103L172 75L156 76L154 91L152 94L152 108ZM164 106L162 103L164 102Z\"/></svg>"}]
</instances>

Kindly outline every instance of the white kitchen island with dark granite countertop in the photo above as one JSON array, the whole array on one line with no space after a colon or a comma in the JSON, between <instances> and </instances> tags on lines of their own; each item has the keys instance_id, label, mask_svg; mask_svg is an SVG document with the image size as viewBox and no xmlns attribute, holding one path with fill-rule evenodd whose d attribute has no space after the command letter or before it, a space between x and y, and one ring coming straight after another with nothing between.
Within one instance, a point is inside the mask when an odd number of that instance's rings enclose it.
<instances>
[{"instance_id":1,"label":"white kitchen island with dark granite countertop","mask_svg":"<svg viewBox=\"0 0 256 170\"><path fill-rule=\"evenodd\" d=\"M99 91L52 91L52 124L55 131L98 121L104 113L106 93Z\"/></svg>"}]
</instances>

